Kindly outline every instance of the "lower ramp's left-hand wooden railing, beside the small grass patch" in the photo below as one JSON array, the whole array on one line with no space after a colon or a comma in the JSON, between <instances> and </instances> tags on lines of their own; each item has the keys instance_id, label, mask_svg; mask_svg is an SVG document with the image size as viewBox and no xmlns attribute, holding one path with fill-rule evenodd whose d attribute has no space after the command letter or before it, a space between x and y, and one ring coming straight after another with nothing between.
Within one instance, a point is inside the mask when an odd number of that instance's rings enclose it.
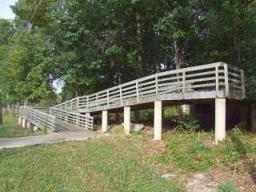
<instances>
[{"instance_id":1,"label":"lower ramp's left-hand wooden railing, beside the small grass patch","mask_svg":"<svg viewBox=\"0 0 256 192\"><path fill-rule=\"evenodd\" d=\"M46 126L47 129L55 130L56 118L54 115L46 114L29 106L20 106L19 116L26 118L27 121L34 124L34 126L38 126L40 129Z\"/></svg>"}]
</instances>

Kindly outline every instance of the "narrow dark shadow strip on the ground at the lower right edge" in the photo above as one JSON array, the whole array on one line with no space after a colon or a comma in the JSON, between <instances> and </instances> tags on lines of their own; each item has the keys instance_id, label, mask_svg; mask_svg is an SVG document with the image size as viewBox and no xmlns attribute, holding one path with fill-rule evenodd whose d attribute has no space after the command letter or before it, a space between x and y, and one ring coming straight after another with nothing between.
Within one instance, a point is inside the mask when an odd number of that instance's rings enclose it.
<instances>
[{"instance_id":1,"label":"narrow dark shadow strip on the ground at the lower right edge","mask_svg":"<svg viewBox=\"0 0 256 192\"><path fill-rule=\"evenodd\" d=\"M256 167L254 162L250 161L250 158L246 152L246 147L243 146L242 141L235 135L231 137L231 141L234 142L236 151L239 154L244 154L242 158L243 165L246 167L246 170L250 174L250 178L253 179L254 184L256 185Z\"/></svg>"}]
</instances>

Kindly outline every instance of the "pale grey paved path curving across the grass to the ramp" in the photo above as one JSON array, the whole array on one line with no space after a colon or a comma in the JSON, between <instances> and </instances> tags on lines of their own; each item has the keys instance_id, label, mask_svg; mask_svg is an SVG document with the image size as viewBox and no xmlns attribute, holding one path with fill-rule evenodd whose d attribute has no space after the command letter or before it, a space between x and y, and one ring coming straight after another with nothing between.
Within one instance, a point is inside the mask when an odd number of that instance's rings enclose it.
<instances>
[{"instance_id":1,"label":"pale grey paved path curving across the grass to the ramp","mask_svg":"<svg viewBox=\"0 0 256 192\"><path fill-rule=\"evenodd\" d=\"M75 130L24 138L0 138L0 149L52 142L86 140L87 138L98 138L101 136L101 134L96 134L91 130Z\"/></svg>"}]
</instances>

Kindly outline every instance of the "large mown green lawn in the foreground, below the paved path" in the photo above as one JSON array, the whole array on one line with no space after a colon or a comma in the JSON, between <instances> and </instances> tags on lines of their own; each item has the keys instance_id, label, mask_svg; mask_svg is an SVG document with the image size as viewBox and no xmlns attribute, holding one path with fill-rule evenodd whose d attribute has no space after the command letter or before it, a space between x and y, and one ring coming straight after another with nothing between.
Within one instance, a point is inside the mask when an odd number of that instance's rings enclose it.
<instances>
[{"instance_id":1,"label":"large mown green lawn in the foreground, below the paved path","mask_svg":"<svg viewBox=\"0 0 256 192\"><path fill-rule=\"evenodd\" d=\"M108 137L0 150L0 191L184 191L142 162L142 145Z\"/></svg>"}]
</instances>

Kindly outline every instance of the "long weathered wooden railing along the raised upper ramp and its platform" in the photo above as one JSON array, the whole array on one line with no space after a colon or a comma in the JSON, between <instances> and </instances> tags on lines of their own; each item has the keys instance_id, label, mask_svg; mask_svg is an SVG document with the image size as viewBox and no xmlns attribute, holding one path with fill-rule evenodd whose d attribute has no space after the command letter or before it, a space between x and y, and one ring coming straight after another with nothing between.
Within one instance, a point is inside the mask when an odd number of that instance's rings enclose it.
<instances>
[{"instance_id":1,"label":"long weathered wooden railing along the raised upper ramp and its platform","mask_svg":"<svg viewBox=\"0 0 256 192\"><path fill-rule=\"evenodd\" d=\"M170 70L126 82L95 94L63 102L54 108L94 112L159 100L246 98L243 70L216 62Z\"/></svg>"}]
</instances>

